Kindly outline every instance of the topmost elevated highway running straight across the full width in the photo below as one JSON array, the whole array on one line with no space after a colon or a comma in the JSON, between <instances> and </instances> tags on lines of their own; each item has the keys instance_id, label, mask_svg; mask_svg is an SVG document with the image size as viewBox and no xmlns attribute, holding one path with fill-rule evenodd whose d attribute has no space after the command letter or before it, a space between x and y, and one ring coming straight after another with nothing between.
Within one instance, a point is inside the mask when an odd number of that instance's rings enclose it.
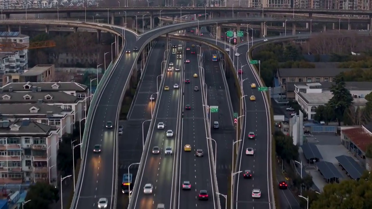
<instances>
[{"instance_id":1,"label":"topmost elevated highway running straight across the full width","mask_svg":"<svg viewBox=\"0 0 372 209\"><path fill-rule=\"evenodd\" d=\"M43 8L43 9L27 9L29 14L37 13L81 13L81 12L216 12L216 13L233 13L233 12L246 12L246 13L296 13L296 14L321 14L321 15L372 15L372 10L339 10L339 9L291 9L291 8L252 8L252 7L72 7L72 8ZM25 14L26 9L5 9L3 15L9 16L10 14Z\"/></svg>"}]
</instances>

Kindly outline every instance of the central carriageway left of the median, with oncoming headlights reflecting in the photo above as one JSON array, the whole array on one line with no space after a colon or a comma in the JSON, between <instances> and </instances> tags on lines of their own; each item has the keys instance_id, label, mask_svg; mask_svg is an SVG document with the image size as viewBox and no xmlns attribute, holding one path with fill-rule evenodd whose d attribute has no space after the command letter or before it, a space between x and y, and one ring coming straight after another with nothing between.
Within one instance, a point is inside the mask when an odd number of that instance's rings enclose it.
<instances>
[{"instance_id":1,"label":"central carriageway left of the median, with oncoming headlights reflecting","mask_svg":"<svg viewBox=\"0 0 372 209\"><path fill-rule=\"evenodd\" d=\"M181 42L176 41L178 45ZM176 51L178 48L172 50ZM182 50L182 47L180 47ZM181 67L183 65L182 60L176 60L176 55L171 54L169 62L173 62L174 66L171 71L166 71L164 83L160 88L158 99L157 99L157 110L155 110L154 127L150 127L151 136L149 138L148 150L145 150L145 161L144 169L141 170L137 176L136 181L138 181L137 192L132 195L134 198L134 208L135 209L148 209L156 208L160 203L164 204L166 208L172 208L174 203L174 197L176 196L173 188L176 184L175 170L176 170L176 158L179 152L177 146L179 146L178 141L180 137L180 102L182 92L181 88L174 89L174 84L179 84L181 86L182 82L182 72L176 71L176 67ZM168 86L169 91L164 91L164 87ZM182 87L182 86L181 86ZM165 129L157 129L157 124L159 122L164 122ZM167 137L167 130L173 131L172 137ZM153 147L159 147L160 153L153 154ZM173 150L172 155L166 155L166 147L171 147ZM153 185L152 194L144 194L142 188L145 184L150 183Z\"/></svg>"}]
</instances>

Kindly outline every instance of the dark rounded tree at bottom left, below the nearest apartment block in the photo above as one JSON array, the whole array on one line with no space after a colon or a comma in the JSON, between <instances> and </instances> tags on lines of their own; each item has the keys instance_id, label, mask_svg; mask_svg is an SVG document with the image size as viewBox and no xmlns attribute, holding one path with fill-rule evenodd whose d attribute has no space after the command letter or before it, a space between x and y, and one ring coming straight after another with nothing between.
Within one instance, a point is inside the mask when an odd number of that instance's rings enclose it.
<instances>
[{"instance_id":1,"label":"dark rounded tree at bottom left, below the nearest apartment block","mask_svg":"<svg viewBox=\"0 0 372 209\"><path fill-rule=\"evenodd\" d=\"M30 201L24 205L24 209L49 208L49 205L57 202L58 199L57 188L49 185L48 182L36 182L27 192L25 201Z\"/></svg>"}]
</instances>

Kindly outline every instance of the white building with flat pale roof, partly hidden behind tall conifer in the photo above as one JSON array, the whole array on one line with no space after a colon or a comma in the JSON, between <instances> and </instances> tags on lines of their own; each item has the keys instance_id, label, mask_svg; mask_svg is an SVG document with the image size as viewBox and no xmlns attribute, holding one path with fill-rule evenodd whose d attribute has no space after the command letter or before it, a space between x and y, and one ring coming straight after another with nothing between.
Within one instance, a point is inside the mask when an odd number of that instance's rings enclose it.
<instances>
[{"instance_id":1,"label":"white building with flat pale roof, partly hidden behind tall conifer","mask_svg":"<svg viewBox=\"0 0 372 209\"><path fill-rule=\"evenodd\" d=\"M372 86L346 88L350 90L355 106L365 106L367 100L364 97L371 93ZM308 119L314 119L318 106L325 105L332 97L332 92L329 89L323 89L320 83L295 84L295 99L307 113Z\"/></svg>"}]
</instances>

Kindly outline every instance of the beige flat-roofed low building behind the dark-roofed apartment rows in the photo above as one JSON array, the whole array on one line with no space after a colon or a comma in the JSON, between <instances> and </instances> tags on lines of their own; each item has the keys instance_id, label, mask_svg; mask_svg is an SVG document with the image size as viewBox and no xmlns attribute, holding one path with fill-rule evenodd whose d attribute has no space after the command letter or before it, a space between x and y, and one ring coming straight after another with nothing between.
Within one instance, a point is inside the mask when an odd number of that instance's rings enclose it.
<instances>
[{"instance_id":1,"label":"beige flat-roofed low building behind the dark-roofed apartment rows","mask_svg":"<svg viewBox=\"0 0 372 209\"><path fill-rule=\"evenodd\" d=\"M2 84L18 82L52 82L55 80L55 66L50 64L36 65L20 73L5 73Z\"/></svg>"}]
</instances>

